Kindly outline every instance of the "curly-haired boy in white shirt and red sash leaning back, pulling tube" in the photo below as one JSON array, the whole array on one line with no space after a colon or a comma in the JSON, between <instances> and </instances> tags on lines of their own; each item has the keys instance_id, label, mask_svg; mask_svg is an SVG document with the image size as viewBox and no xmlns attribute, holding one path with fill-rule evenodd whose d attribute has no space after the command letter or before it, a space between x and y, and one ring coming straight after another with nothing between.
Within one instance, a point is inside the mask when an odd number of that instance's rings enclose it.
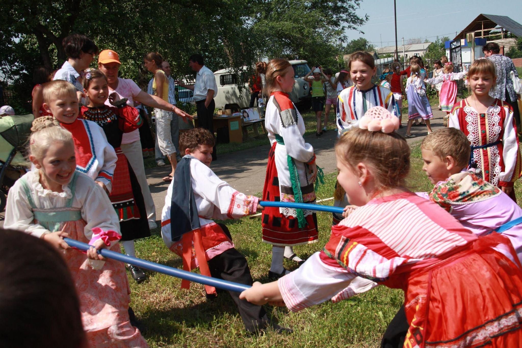
<instances>
[{"instance_id":1,"label":"curly-haired boy in white shirt and red sash leaning back, pulling tube","mask_svg":"<svg viewBox=\"0 0 522 348\"><path fill-rule=\"evenodd\" d=\"M204 128L194 128L180 136L180 149L185 156L177 165L169 185L161 217L161 236L165 245L183 259L183 269L199 267L201 274L236 283L252 285L252 275L246 259L234 248L226 225L211 219L240 219L263 209L259 198L246 196L222 181L210 169L213 135ZM189 288L183 280L181 287ZM216 289L205 286L207 298L216 296ZM276 331L288 331L266 316L265 309L239 299L239 293L229 291L238 306L245 328L249 332L272 326Z\"/></svg>"}]
</instances>

